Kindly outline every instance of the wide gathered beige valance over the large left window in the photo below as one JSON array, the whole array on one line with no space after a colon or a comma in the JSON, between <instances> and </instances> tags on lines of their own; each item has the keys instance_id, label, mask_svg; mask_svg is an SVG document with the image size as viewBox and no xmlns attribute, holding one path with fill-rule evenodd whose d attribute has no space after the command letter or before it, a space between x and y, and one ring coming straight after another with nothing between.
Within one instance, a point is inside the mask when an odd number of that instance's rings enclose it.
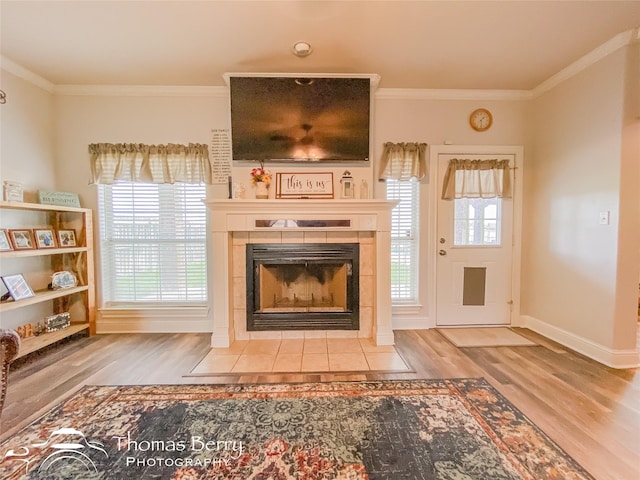
<instances>
[{"instance_id":1,"label":"wide gathered beige valance over the large left window","mask_svg":"<svg viewBox=\"0 0 640 480\"><path fill-rule=\"evenodd\" d=\"M212 182L206 144L92 143L89 154L91 183Z\"/></svg>"}]
</instances>

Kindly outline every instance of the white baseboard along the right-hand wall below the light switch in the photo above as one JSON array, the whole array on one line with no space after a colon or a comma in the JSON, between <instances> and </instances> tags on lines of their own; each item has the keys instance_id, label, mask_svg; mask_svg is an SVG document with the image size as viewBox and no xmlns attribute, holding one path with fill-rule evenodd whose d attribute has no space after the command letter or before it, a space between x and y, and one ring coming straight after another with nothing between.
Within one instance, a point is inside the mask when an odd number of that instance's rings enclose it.
<instances>
[{"instance_id":1,"label":"white baseboard along the right-hand wall below the light switch","mask_svg":"<svg viewBox=\"0 0 640 480\"><path fill-rule=\"evenodd\" d=\"M520 325L533 330L565 347L575 350L596 362L611 368L636 368L640 366L640 354L636 349L612 350L609 347L586 339L555 325L529 315L520 316Z\"/></svg>"}]
</instances>

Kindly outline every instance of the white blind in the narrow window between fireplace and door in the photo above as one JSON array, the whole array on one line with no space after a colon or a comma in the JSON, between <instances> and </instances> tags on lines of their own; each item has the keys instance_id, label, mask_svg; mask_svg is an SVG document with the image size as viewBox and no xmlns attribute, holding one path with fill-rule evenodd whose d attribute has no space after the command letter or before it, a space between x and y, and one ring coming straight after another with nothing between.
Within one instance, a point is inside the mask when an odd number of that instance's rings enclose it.
<instances>
[{"instance_id":1,"label":"white blind in the narrow window between fireplace and door","mask_svg":"<svg viewBox=\"0 0 640 480\"><path fill-rule=\"evenodd\" d=\"M387 199L400 200L391 212L391 299L418 301L418 211L420 183L387 180Z\"/></svg>"}]
</instances>

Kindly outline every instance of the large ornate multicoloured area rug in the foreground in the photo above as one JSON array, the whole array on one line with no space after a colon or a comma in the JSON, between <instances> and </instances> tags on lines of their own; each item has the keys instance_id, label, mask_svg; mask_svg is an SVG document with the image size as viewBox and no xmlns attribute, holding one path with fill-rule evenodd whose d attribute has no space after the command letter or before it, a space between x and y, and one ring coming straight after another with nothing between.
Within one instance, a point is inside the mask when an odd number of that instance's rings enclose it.
<instances>
[{"instance_id":1,"label":"large ornate multicoloured area rug in the foreground","mask_svg":"<svg viewBox=\"0 0 640 480\"><path fill-rule=\"evenodd\" d=\"M482 378L87 386L0 454L3 479L593 479Z\"/></svg>"}]
</instances>

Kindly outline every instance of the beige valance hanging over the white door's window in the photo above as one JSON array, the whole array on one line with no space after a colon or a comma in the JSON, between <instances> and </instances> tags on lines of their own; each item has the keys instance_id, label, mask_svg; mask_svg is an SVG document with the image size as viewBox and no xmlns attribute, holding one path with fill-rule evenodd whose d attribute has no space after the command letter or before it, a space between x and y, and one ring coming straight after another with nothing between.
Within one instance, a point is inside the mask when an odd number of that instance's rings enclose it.
<instances>
[{"instance_id":1,"label":"beige valance hanging over the white door's window","mask_svg":"<svg viewBox=\"0 0 640 480\"><path fill-rule=\"evenodd\" d=\"M454 158L442 185L442 199L511 197L509 160Z\"/></svg>"}]
</instances>

